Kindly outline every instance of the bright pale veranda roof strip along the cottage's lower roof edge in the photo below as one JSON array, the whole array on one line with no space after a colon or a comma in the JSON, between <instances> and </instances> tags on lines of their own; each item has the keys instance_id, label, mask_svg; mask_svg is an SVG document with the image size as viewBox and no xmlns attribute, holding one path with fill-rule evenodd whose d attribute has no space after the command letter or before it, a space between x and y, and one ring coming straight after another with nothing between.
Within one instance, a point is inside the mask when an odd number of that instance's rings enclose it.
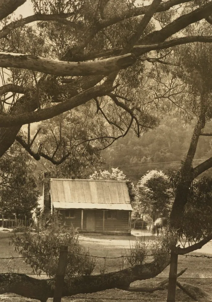
<instances>
[{"instance_id":1,"label":"bright pale veranda roof strip along the cottage's lower roof edge","mask_svg":"<svg viewBox=\"0 0 212 302\"><path fill-rule=\"evenodd\" d=\"M101 210L127 210L132 211L131 204L88 204L87 202L53 202L55 209L101 209Z\"/></svg>"}]
</instances>

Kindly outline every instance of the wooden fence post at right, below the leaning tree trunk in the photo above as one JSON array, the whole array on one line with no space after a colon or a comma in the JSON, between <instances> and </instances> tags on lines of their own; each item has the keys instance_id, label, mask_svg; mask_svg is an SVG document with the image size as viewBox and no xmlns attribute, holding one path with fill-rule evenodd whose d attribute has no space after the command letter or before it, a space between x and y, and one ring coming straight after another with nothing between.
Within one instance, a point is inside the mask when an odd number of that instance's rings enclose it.
<instances>
[{"instance_id":1,"label":"wooden fence post at right, below the leaning tree trunk","mask_svg":"<svg viewBox=\"0 0 212 302\"><path fill-rule=\"evenodd\" d=\"M175 302L178 254L171 251L167 302Z\"/></svg>"}]
</instances>

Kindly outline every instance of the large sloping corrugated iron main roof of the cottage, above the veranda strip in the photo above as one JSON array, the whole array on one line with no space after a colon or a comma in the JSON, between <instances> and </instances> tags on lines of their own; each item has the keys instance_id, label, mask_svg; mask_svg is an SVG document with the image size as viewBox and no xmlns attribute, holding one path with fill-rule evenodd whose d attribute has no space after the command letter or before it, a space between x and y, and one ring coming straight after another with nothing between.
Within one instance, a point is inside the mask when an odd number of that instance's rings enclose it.
<instances>
[{"instance_id":1,"label":"large sloping corrugated iron main roof of the cottage, above the veranda strip","mask_svg":"<svg viewBox=\"0 0 212 302\"><path fill-rule=\"evenodd\" d=\"M92 208L91 204L100 204L98 208L101 209L108 209L105 204L118 204L120 207L121 204L130 204L124 181L50 178L50 194L55 208L59 208L56 204L62 206L66 203L72 203L69 208L74 204L75 208L77 204L85 204L84 209Z\"/></svg>"}]
</instances>

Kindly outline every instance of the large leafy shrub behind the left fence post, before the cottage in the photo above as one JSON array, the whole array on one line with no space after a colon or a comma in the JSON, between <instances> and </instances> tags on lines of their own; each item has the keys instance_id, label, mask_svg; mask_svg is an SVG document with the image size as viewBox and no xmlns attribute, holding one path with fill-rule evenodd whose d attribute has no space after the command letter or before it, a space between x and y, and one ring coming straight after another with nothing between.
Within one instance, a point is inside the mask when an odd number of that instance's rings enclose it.
<instances>
[{"instance_id":1,"label":"large leafy shrub behind the left fence post, before the cottage","mask_svg":"<svg viewBox=\"0 0 212 302\"><path fill-rule=\"evenodd\" d=\"M31 265L33 273L38 275L44 272L49 277L55 276L62 245L69 247L65 278L91 275L95 269L95 259L89 257L89 251L85 252L79 245L78 234L73 227L65 228L51 222L46 229L36 233L27 230L21 235L14 233L11 244L15 251L29 257L24 261Z\"/></svg>"}]
</instances>

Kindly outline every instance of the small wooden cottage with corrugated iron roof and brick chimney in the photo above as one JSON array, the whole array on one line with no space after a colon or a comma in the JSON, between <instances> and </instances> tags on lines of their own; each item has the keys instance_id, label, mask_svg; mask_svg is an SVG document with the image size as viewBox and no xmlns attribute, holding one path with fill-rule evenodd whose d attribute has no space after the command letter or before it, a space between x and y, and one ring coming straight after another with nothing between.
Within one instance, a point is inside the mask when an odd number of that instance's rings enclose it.
<instances>
[{"instance_id":1,"label":"small wooden cottage with corrugated iron roof and brick chimney","mask_svg":"<svg viewBox=\"0 0 212 302\"><path fill-rule=\"evenodd\" d=\"M44 175L44 213L57 212L81 232L130 234L132 207L125 182Z\"/></svg>"}]
</instances>

